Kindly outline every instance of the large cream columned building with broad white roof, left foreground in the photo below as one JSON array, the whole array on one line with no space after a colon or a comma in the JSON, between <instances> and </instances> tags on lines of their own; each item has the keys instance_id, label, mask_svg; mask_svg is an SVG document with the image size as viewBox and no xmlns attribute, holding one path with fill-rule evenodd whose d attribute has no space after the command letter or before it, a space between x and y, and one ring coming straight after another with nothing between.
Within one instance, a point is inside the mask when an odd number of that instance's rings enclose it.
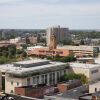
<instances>
[{"instance_id":1,"label":"large cream columned building with broad white roof, left foreground","mask_svg":"<svg viewBox=\"0 0 100 100\"><path fill-rule=\"evenodd\" d=\"M53 85L66 73L67 64L49 60L34 59L0 65L5 72L5 92L14 93L17 86L36 84Z\"/></svg>"}]
</instances>

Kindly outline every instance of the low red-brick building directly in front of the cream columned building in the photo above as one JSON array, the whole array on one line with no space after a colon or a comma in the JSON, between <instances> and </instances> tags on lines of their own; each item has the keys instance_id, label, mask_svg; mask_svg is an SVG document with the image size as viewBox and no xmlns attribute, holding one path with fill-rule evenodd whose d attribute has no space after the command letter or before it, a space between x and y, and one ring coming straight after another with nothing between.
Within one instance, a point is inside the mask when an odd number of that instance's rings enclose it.
<instances>
[{"instance_id":1,"label":"low red-brick building directly in front of the cream columned building","mask_svg":"<svg viewBox=\"0 0 100 100\"><path fill-rule=\"evenodd\" d=\"M21 86L15 87L15 94L33 98L43 98L44 95L54 94L53 86L37 85L37 86Z\"/></svg>"}]
</instances>

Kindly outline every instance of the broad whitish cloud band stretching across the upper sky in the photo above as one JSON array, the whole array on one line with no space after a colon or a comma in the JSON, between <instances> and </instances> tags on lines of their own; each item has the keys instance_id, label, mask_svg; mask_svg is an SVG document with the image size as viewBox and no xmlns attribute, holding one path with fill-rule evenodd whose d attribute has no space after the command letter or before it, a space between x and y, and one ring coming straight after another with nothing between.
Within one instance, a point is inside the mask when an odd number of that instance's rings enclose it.
<instances>
[{"instance_id":1,"label":"broad whitish cloud band stretching across the upper sky","mask_svg":"<svg viewBox=\"0 0 100 100\"><path fill-rule=\"evenodd\" d=\"M71 5L44 5L24 4L14 7L0 7L0 16L25 17L25 16L69 16L69 15L95 15L100 12L99 4L71 4Z\"/></svg>"}]
</instances>

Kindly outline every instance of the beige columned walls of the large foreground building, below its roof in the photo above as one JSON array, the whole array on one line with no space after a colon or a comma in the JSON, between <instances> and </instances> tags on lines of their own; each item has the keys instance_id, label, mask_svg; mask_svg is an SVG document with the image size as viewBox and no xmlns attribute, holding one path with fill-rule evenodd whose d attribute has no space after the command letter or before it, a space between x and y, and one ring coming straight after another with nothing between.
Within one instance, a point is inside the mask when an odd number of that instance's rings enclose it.
<instances>
[{"instance_id":1,"label":"beige columned walls of the large foreground building, below its roof","mask_svg":"<svg viewBox=\"0 0 100 100\"><path fill-rule=\"evenodd\" d=\"M41 75L35 75L27 78L9 77L9 74L5 74L5 92L11 93L11 91L13 91L13 93L15 93L15 87L19 87L19 86L29 86L29 85L44 84L44 83L48 85L57 84L60 77L64 75L65 71L66 69L50 72L46 74L41 74ZM19 85L17 85L17 83L19 83Z\"/></svg>"}]
</instances>

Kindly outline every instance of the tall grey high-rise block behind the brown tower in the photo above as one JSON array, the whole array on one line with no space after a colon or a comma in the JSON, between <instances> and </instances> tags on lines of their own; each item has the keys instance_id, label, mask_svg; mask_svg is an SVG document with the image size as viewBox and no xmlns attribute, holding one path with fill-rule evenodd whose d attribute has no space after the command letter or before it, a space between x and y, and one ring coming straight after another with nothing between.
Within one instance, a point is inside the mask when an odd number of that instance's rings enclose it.
<instances>
[{"instance_id":1,"label":"tall grey high-rise block behind the brown tower","mask_svg":"<svg viewBox=\"0 0 100 100\"><path fill-rule=\"evenodd\" d=\"M51 36L54 35L56 37L57 43L62 42L64 39L70 36L69 29L68 28L61 28L59 25L56 27L49 27L46 30L47 34L47 46L50 46L51 42Z\"/></svg>"}]
</instances>

